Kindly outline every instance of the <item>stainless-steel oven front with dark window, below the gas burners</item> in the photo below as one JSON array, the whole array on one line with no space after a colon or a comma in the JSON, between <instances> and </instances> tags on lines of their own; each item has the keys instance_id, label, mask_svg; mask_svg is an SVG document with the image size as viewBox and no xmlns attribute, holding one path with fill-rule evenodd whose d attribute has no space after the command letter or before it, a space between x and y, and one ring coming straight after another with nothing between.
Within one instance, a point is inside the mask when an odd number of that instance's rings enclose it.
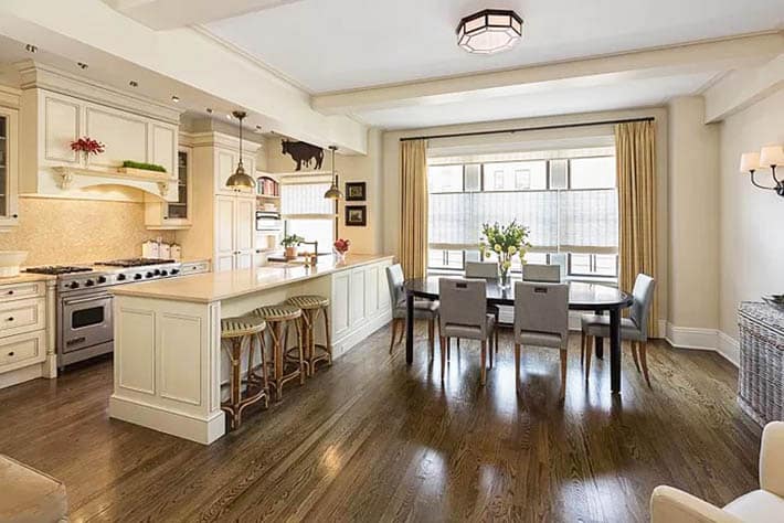
<instances>
[{"instance_id":1,"label":"stainless-steel oven front with dark window, below the gas burners","mask_svg":"<svg viewBox=\"0 0 784 523\"><path fill-rule=\"evenodd\" d=\"M112 352L112 295L107 289L63 292L57 307L57 366Z\"/></svg>"}]
</instances>

